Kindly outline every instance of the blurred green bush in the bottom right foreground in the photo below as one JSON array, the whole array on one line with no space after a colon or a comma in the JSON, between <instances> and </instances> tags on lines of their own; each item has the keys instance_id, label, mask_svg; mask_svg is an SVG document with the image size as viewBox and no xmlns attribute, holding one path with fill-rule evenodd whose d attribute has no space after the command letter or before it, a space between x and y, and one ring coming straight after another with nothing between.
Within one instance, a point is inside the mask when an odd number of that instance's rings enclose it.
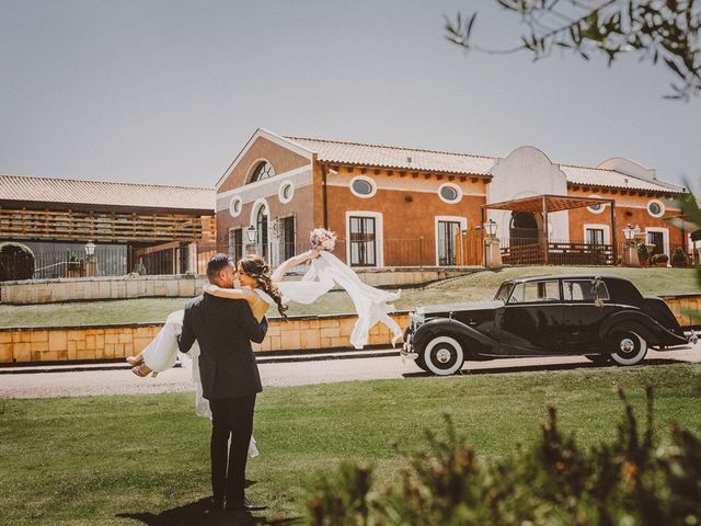
<instances>
[{"instance_id":1,"label":"blurred green bush in the bottom right foreground","mask_svg":"<svg viewBox=\"0 0 701 526\"><path fill-rule=\"evenodd\" d=\"M647 389L645 428L622 391L618 437L590 448L558 427L548 409L542 435L497 461L480 461L448 416L447 437L427 432L430 453L406 454L399 481L379 489L372 470L346 465L322 478L309 522L322 525L698 525L701 441L671 424L670 445L653 435Z\"/></svg>"}]
</instances>

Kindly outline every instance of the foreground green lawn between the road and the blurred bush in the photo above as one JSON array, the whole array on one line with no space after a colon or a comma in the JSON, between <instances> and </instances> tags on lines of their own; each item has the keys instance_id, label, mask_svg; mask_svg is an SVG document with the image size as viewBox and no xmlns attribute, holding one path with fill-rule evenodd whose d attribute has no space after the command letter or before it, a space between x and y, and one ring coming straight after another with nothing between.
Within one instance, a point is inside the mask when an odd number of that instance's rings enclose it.
<instances>
[{"instance_id":1,"label":"foreground green lawn between the road and the blurred bush","mask_svg":"<svg viewBox=\"0 0 701 526\"><path fill-rule=\"evenodd\" d=\"M536 437L548 403L558 405L562 427L581 443L610 441L622 416L613 386L643 414L646 384L655 386L658 436L673 419L701 433L701 366L691 364L266 388L255 418L262 456L249 462L248 478L256 482L248 494L269 504L268 521L289 519L303 515L306 489L318 473L342 460L369 460L380 481L389 481L402 465L392 444L424 446L423 430L441 430L445 412L481 458ZM209 423L193 415L192 399L7 400L0 408L2 523L183 521L193 502L210 494ZM232 524L231 517L205 518L197 524Z\"/></svg>"}]
</instances>

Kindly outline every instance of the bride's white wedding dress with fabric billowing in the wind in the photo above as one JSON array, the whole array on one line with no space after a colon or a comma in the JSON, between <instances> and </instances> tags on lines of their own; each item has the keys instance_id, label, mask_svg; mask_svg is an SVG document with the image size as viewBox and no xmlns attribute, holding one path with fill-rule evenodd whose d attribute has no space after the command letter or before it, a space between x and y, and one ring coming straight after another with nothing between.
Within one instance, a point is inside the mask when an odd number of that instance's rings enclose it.
<instances>
[{"instance_id":1,"label":"bride's white wedding dress with fabric billowing in the wind","mask_svg":"<svg viewBox=\"0 0 701 526\"><path fill-rule=\"evenodd\" d=\"M312 260L311 268L301 281L277 284L283 293L284 302L296 301L304 305L314 302L336 285L348 293L358 315L358 321L356 321L350 334L350 344L355 348L363 348L368 343L370 329L381 322L394 334L392 338L392 345L394 345L402 336L402 330L389 316L394 311L394 306L389 301L399 299L399 293L389 293L366 285L352 268L332 253L321 252L318 259ZM254 291L272 307L276 306L275 300L263 290L256 288ZM195 341L187 354L180 353L177 347L177 336L183 331L183 310L176 310L169 315L163 329L141 352L141 355L146 366L159 373L173 367L180 355L183 367L192 371L195 385L195 413L211 419L209 402L203 397L199 379L199 345ZM249 454L251 456L257 455L253 437L251 437Z\"/></svg>"}]
</instances>

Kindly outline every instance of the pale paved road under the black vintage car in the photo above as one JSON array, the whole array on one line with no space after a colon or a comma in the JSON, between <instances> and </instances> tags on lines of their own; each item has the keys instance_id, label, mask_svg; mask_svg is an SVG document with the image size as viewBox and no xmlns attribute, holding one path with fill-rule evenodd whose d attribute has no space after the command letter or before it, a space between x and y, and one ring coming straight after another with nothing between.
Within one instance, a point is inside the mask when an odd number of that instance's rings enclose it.
<instances>
[{"instance_id":1,"label":"pale paved road under the black vintage car","mask_svg":"<svg viewBox=\"0 0 701 526\"><path fill-rule=\"evenodd\" d=\"M701 343L677 351L650 351L650 363L701 362ZM468 362L466 371L498 374L593 367L584 357L518 358ZM349 380L427 376L413 362L398 356L324 359L260 365L265 386L299 386ZM7 369L5 369L7 370ZM175 368L158 378L138 378L128 369L25 373L0 375L0 398L83 397L90 395L154 393L192 390L189 371Z\"/></svg>"}]
</instances>

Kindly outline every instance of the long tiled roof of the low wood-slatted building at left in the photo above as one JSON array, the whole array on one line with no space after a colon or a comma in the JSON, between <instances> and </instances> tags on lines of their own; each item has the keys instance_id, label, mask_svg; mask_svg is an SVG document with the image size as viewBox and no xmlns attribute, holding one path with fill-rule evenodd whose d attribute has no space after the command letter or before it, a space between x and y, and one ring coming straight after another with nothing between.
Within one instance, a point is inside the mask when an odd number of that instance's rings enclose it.
<instances>
[{"instance_id":1,"label":"long tiled roof of the low wood-slatted building at left","mask_svg":"<svg viewBox=\"0 0 701 526\"><path fill-rule=\"evenodd\" d=\"M0 202L159 208L214 215L216 192L191 186L0 175Z\"/></svg>"}]
</instances>

